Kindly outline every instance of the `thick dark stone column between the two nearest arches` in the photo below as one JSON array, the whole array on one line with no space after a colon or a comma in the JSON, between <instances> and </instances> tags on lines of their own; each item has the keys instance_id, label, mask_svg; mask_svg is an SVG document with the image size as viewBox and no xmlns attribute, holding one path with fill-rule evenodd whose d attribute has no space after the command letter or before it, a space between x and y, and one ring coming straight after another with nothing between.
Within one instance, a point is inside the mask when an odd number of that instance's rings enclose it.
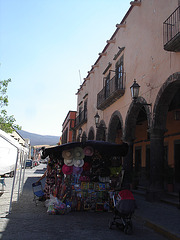
<instances>
[{"instance_id":1,"label":"thick dark stone column between the two nearest arches","mask_svg":"<svg viewBox=\"0 0 180 240\"><path fill-rule=\"evenodd\" d=\"M162 129L150 131L150 185L147 189L148 201L160 200L163 191L164 133Z\"/></svg>"}]
</instances>

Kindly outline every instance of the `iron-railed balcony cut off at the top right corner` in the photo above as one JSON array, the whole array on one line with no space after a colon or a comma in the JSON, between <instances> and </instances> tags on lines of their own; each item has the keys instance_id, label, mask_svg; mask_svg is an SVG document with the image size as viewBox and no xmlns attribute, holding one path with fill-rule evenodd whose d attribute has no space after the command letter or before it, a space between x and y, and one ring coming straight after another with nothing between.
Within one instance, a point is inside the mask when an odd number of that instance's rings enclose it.
<instances>
[{"instance_id":1,"label":"iron-railed balcony cut off at the top right corner","mask_svg":"<svg viewBox=\"0 0 180 240\"><path fill-rule=\"evenodd\" d=\"M180 52L180 6L163 23L164 49Z\"/></svg>"}]
</instances>

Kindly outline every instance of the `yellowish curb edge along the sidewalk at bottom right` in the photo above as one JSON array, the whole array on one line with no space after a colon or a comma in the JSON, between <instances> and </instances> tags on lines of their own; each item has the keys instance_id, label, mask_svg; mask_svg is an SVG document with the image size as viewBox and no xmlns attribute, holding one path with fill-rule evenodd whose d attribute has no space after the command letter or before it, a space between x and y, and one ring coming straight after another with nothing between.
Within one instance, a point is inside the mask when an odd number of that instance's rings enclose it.
<instances>
[{"instance_id":1,"label":"yellowish curb edge along the sidewalk at bottom right","mask_svg":"<svg viewBox=\"0 0 180 240\"><path fill-rule=\"evenodd\" d=\"M135 215L137 218L143 220L145 222L145 226L153 229L155 232L161 234L162 236L170 239L170 240L179 240L180 239L180 236L177 236L176 234L172 233L172 232L169 232L167 231L166 229L164 229L162 226L160 225L157 225L151 221L149 221L148 219L146 218L143 218L141 216L138 216L138 215Z\"/></svg>"}]
</instances>

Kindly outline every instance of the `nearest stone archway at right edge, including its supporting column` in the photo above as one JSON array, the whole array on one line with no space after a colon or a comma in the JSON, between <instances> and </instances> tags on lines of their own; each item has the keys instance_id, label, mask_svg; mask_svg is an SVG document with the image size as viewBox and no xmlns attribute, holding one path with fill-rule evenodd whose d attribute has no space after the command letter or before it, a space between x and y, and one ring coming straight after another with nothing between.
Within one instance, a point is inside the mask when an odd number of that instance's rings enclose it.
<instances>
[{"instance_id":1,"label":"nearest stone archway at right edge, including its supporting column","mask_svg":"<svg viewBox=\"0 0 180 240\"><path fill-rule=\"evenodd\" d=\"M172 74L160 88L153 109L150 146L151 188L163 189L164 134L169 106L180 91L180 72Z\"/></svg>"}]
</instances>

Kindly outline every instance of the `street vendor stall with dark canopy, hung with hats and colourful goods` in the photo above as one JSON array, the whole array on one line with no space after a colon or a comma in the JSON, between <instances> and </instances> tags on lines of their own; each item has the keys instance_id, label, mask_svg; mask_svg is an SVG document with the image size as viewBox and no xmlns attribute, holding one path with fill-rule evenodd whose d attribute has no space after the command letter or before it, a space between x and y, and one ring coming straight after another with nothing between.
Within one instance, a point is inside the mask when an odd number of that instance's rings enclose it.
<instances>
[{"instance_id":1,"label":"street vendor stall with dark canopy, hung with hats and colourful goods","mask_svg":"<svg viewBox=\"0 0 180 240\"><path fill-rule=\"evenodd\" d=\"M57 170L54 197L72 211L108 211L110 192L121 185L122 157L128 144L103 141L72 142L45 148Z\"/></svg>"}]
</instances>

